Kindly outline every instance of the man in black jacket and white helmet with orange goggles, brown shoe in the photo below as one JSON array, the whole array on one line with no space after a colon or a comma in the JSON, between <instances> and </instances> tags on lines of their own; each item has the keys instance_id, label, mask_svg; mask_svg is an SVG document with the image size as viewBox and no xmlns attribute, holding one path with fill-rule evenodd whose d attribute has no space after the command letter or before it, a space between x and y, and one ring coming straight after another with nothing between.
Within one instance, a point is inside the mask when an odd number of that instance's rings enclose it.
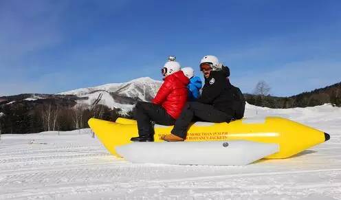
<instances>
[{"instance_id":1,"label":"man in black jacket and white helmet with orange goggles, brown shoe","mask_svg":"<svg viewBox=\"0 0 341 200\"><path fill-rule=\"evenodd\" d=\"M223 67L215 56L204 56L200 70L205 78L201 97L197 102L188 102L176 120L172 134L162 137L168 142L184 141L193 118L206 122L230 122L243 118L236 114L236 98L242 98L241 91L230 84L230 69ZM240 93L241 96L238 94ZM245 103L244 103L245 108Z\"/></svg>"}]
</instances>

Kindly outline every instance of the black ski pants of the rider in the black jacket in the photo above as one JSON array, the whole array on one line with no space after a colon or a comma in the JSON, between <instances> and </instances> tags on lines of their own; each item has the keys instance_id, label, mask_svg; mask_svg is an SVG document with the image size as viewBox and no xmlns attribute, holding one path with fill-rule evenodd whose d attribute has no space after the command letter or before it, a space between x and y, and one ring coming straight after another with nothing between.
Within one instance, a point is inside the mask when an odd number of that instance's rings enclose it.
<instances>
[{"instance_id":1,"label":"black ski pants of the rider in the black jacket","mask_svg":"<svg viewBox=\"0 0 341 200\"><path fill-rule=\"evenodd\" d=\"M188 126L193 118L215 123L230 122L232 120L231 115L215 109L212 105L200 102L188 102L181 111L180 117L176 120L171 133L186 139Z\"/></svg>"}]
</instances>

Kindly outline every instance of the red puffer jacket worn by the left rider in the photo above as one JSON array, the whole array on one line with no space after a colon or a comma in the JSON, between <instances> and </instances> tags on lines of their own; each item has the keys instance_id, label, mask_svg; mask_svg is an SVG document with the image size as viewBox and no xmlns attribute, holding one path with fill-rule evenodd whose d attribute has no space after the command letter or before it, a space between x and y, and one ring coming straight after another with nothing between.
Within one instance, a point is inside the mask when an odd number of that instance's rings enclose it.
<instances>
[{"instance_id":1,"label":"red puffer jacket worn by the left rider","mask_svg":"<svg viewBox=\"0 0 341 200\"><path fill-rule=\"evenodd\" d=\"M166 76L152 102L164 107L167 113L176 120L187 102L189 81L182 71Z\"/></svg>"}]
</instances>

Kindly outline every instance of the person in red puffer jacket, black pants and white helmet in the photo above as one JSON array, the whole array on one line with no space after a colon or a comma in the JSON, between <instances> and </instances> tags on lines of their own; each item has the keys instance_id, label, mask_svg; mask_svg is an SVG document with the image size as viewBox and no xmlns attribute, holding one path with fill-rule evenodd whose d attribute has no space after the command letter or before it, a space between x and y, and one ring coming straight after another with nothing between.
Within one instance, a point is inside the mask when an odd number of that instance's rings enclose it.
<instances>
[{"instance_id":1,"label":"person in red puffer jacket, black pants and white helmet","mask_svg":"<svg viewBox=\"0 0 341 200\"><path fill-rule=\"evenodd\" d=\"M187 101L189 79L180 70L179 63L168 61L162 68L164 83L152 102L137 102L135 119L139 137L132 137L133 142L153 142L156 124L170 126L175 123Z\"/></svg>"}]
</instances>

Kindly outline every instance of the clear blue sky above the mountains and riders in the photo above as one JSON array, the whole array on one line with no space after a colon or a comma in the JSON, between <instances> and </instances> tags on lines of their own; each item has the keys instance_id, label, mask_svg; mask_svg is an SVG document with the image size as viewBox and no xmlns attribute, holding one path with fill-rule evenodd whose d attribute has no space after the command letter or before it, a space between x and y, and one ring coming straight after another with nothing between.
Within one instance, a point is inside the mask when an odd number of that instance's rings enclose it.
<instances>
[{"instance_id":1,"label":"clear blue sky above the mountains and riders","mask_svg":"<svg viewBox=\"0 0 341 200\"><path fill-rule=\"evenodd\" d=\"M341 81L341 1L0 0L0 96L149 76L168 55L201 76L218 56L232 84L275 96Z\"/></svg>"}]
</instances>

